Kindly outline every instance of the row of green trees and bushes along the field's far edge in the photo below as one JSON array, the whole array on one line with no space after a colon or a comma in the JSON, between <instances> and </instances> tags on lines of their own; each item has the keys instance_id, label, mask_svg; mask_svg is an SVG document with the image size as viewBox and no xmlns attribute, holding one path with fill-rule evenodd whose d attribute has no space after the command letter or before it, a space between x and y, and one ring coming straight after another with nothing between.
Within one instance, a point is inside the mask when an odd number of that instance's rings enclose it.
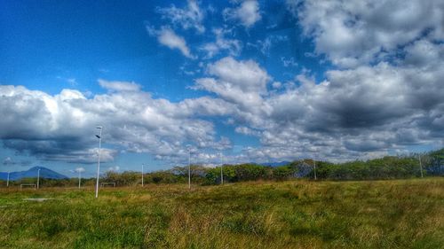
<instances>
[{"instance_id":1,"label":"row of green trees and bushes along the field's far edge","mask_svg":"<svg viewBox=\"0 0 444 249\"><path fill-rule=\"evenodd\" d=\"M328 161L295 160L280 167L263 166L253 163L223 165L219 167L191 166L193 184L210 185L221 183L221 167L224 183L245 181L282 181L292 178L313 179L316 173L321 180L382 180L413 178L422 175L444 175L444 149L424 154L408 156L386 156L375 160L353 160L344 163ZM316 169L314 169L316 166ZM144 174L145 183L187 183L188 167L173 167ZM2 183L3 182L3 183ZM100 182L115 183L116 186L131 186L141 183L140 172L125 171L123 173L107 172L100 177ZM10 185L20 183L36 183L36 178L12 181ZM42 186L75 186L77 178L71 179L40 179ZM4 181L0 181L4 185ZM83 179L83 186L93 186L95 178Z\"/></svg>"}]
</instances>

